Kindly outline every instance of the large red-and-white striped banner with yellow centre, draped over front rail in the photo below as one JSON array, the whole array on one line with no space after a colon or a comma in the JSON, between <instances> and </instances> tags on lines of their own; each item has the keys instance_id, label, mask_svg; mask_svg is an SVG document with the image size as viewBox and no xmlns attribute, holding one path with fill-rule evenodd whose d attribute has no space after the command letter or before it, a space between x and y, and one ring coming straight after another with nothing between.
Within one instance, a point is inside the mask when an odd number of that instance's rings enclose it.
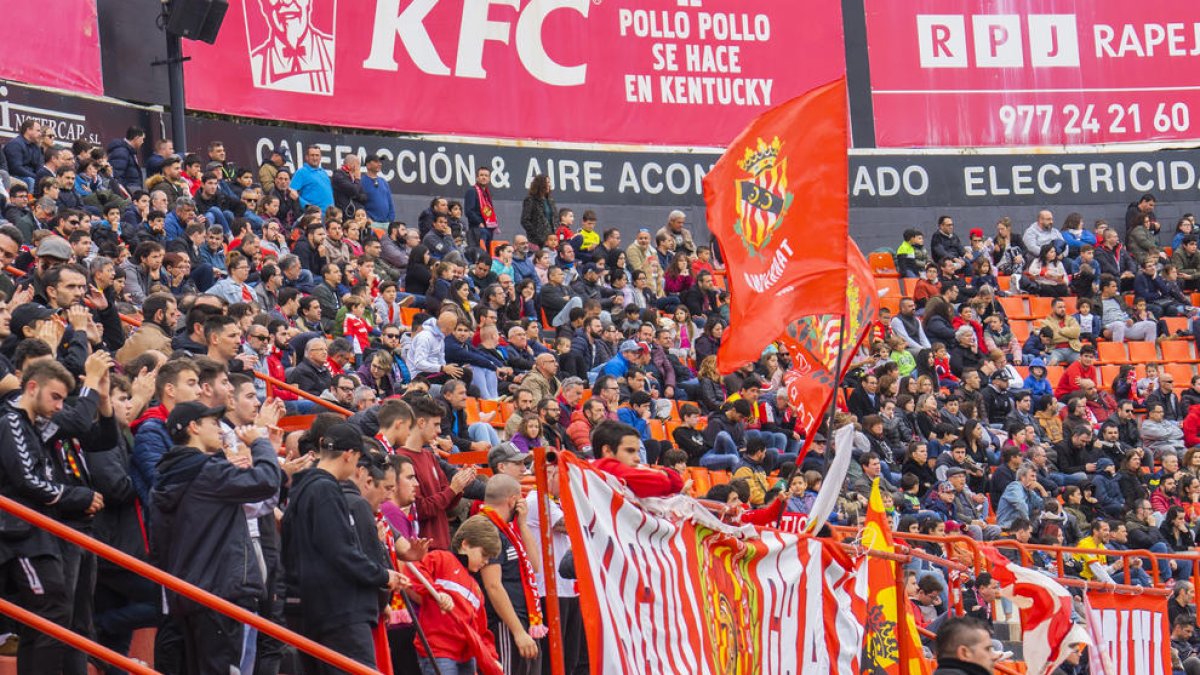
<instances>
[{"instance_id":1,"label":"large red-and-white striped banner with yellow centre, draped over front rail","mask_svg":"<svg viewBox=\"0 0 1200 675\"><path fill-rule=\"evenodd\" d=\"M857 673L852 563L810 536L714 522L559 455L592 673ZM748 536L749 534L749 536Z\"/></svg>"}]
</instances>

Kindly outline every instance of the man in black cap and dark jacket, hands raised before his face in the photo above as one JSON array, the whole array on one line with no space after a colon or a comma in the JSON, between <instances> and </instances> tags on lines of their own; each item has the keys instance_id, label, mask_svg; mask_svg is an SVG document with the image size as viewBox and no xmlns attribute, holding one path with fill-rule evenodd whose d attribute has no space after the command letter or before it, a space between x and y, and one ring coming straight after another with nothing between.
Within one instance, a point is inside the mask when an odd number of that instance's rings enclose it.
<instances>
[{"instance_id":1,"label":"man in black cap and dark jacket, hands raised before his face","mask_svg":"<svg viewBox=\"0 0 1200 675\"><path fill-rule=\"evenodd\" d=\"M163 571L256 611L266 569L242 507L276 496L282 472L275 448L254 426L238 428L238 447L226 448L223 414L224 406L188 401L167 417L175 446L158 464L150 497L151 546ZM253 671L254 653L244 650L253 644L250 628L174 593L167 603L193 671Z\"/></svg>"}]
</instances>

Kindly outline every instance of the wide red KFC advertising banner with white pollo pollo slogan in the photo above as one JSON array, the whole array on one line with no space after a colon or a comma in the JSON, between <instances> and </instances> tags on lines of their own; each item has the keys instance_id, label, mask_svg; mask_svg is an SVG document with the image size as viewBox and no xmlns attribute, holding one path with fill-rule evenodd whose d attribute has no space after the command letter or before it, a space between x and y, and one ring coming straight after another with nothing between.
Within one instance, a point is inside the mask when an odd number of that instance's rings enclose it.
<instances>
[{"instance_id":1,"label":"wide red KFC advertising banner with white pollo pollo slogan","mask_svg":"<svg viewBox=\"0 0 1200 675\"><path fill-rule=\"evenodd\" d=\"M718 147L845 72L838 2L230 0L190 108L415 133Z\"/></svg>"}]
</instances>

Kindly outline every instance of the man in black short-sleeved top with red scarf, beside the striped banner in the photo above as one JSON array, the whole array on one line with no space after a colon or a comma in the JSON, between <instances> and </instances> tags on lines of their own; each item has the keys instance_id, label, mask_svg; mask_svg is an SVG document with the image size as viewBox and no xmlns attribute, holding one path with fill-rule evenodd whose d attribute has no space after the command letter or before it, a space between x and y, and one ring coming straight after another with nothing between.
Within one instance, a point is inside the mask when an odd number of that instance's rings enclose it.
<instances>
[{"instance_id":1,"label":"man in black short-sleeved top with red scarf, beside the striped banner","mask_svg":"<svg viewBox=\"0 0 1200 675\"><path fill-rule=\"evenodd\" d=\"M500 554L480 569L478 578L487 596L487 625L496 635L504 673L540 675L538 640L547 633L536 591L541 550L527 522L521 483L511 476L492 476L479 513L500 533Z\"/></svg>"}]
</instances>

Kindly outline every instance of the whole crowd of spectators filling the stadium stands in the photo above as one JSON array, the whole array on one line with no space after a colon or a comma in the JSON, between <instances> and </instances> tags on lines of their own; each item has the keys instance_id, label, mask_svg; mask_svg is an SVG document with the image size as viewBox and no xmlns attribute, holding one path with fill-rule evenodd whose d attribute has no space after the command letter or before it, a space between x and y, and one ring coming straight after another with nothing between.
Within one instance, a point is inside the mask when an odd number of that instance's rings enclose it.
<instances>
[{"instance_id":1,"label":"whole crowd of spectators filling the stadium stands","mask_svg":"<svg viewBox=\"0 0 1200 675\"><path fill-rule=\"evenodd\" d=\"M719 375L724 270L680 211L625 243L595 213L576 221L539 175L502 227L480 168L409 225L378 157L330 175L319 148L294 165L281 147L238 167L221 143L179 156L145 136L66 148L28 121L4 148L0 494L362 663L385 634L396 673L546 671L553 572L566 673L588 670L557 480L551 522L522 490L536 447L594 460L640 496L692 492L696 467L728 472L703 496L772 524L808 513L826 438L853 425L835 524L860 521L880 478L900 532L1094 549L1068 569L1084 579L1150 585L1146 565L1103 551L1194 546L1200 377L1147 364L1102 387L1097 366L1098 344L1163 339L1163 319L1196 311L1193 222L1168 257L1151 196L1130 205L1124 244L1049 211L967 245L943 217L928 253L906 232L895 261L913 292L872 328L842 410L798 465L787 354ZM1001 301L1018 291L1054 298L1025 341ZM480 400L511 412L500 422ZM307 413L307 429L280 429ZM448 461L461 453L487 471ZM5 595L58 623L118 651L156 627L160 671L334 671L7 515L0 554ZM1180 631L1195 625L1190 572L1159 571ZM972 641L995 581L965 585L976 622L950 616L948 581L912 563L918 623L946 629L946 659L995 659ZM20 673L85 671L82 652L16 632ZM1176 646L1189 674L1198 645Z\"/></svg>"}]
</instances>

